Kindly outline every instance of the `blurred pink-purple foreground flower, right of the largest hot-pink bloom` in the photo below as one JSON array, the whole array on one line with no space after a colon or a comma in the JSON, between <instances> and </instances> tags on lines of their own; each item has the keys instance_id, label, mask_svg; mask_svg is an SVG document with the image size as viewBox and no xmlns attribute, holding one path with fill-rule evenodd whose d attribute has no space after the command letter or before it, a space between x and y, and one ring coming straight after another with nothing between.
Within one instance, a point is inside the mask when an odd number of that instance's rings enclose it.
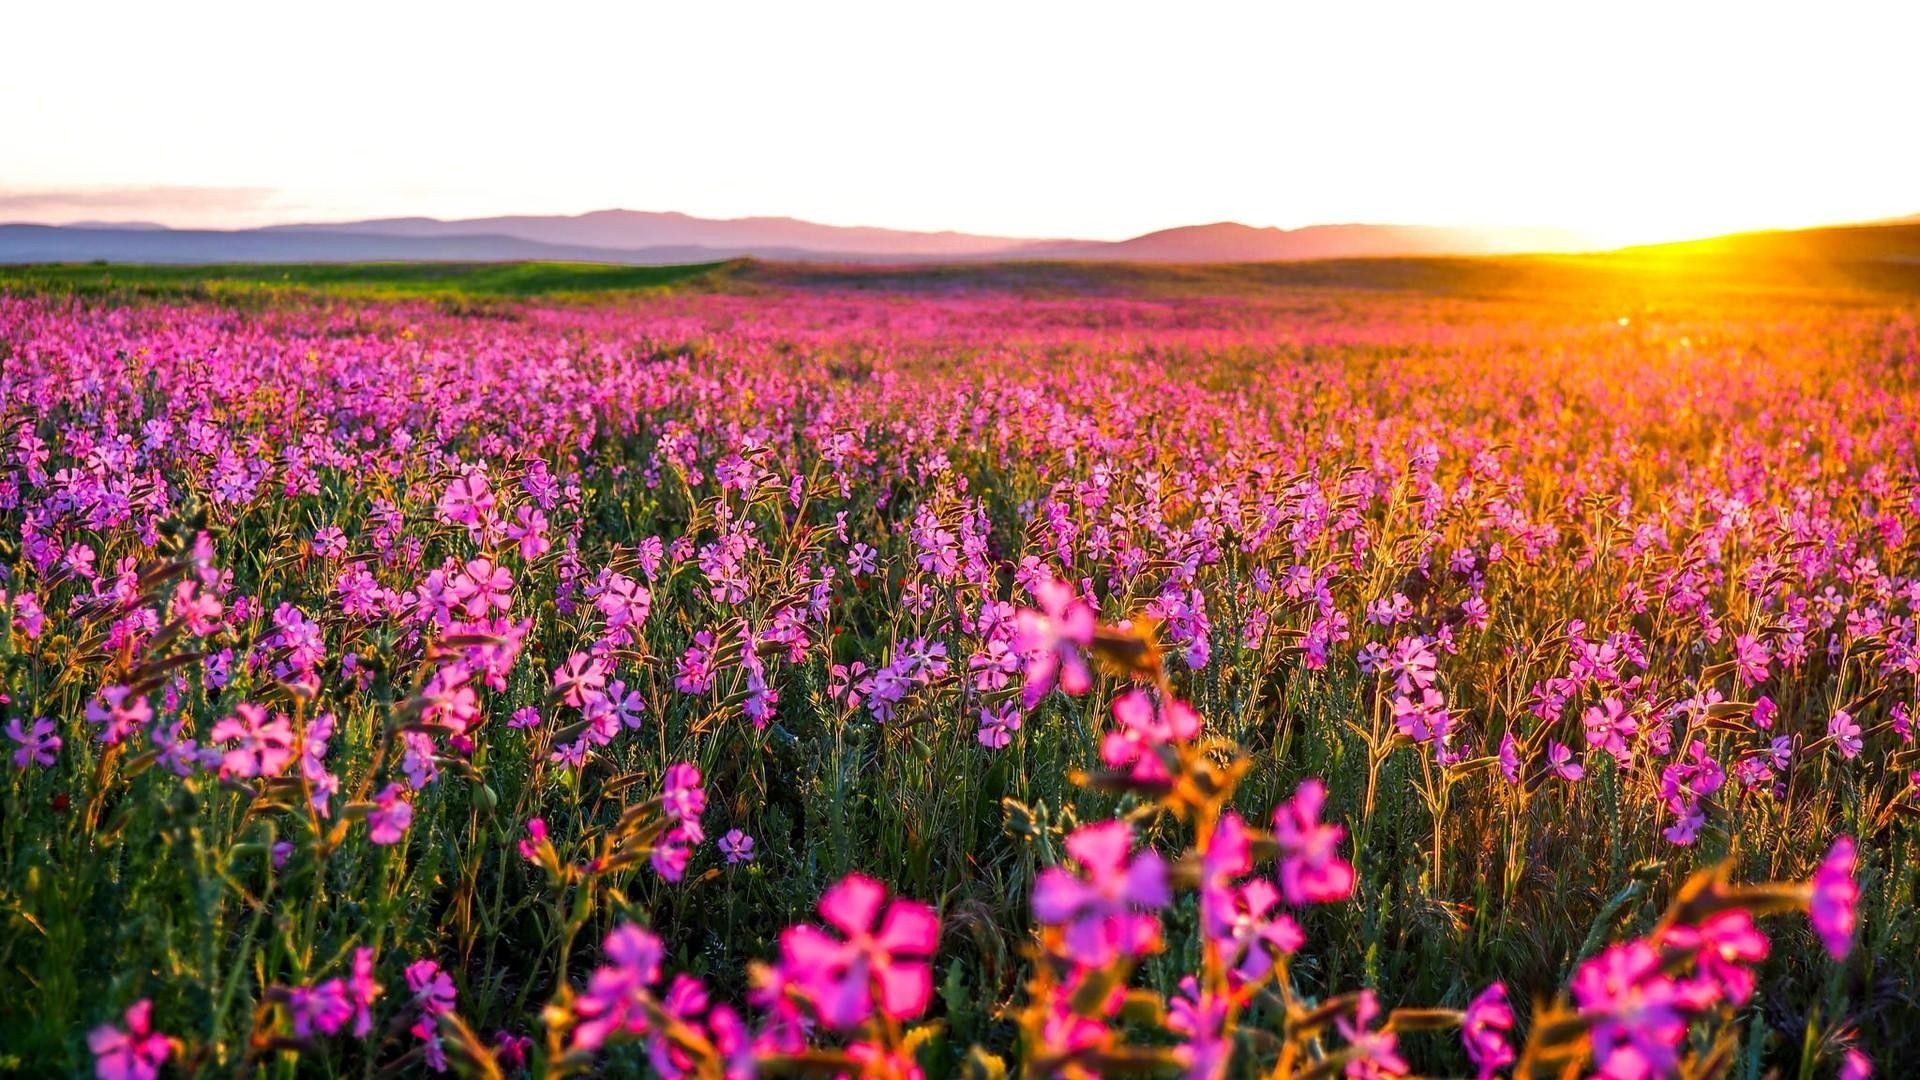
<instances>
[{"instance_id":1,"label":"blurred pink-purple foreground flower, right of the largest hot-pink bloom","mask_svg":"<svg viewBox=\"0 0 1920 1080\"><path fill-rule=\"evenodd\" d=\"M1033 882L1033 917L1066 928L1066 947L1077 963L1100 967L1160 942L1158 919L1142 911L1173 901L1167 865L1152 849L1129 859L1131 847L1133 826L1125 821L1085 824L1068 836L1068 855L1087 876L1048 867Z\"/></svg>"}]
</instances>

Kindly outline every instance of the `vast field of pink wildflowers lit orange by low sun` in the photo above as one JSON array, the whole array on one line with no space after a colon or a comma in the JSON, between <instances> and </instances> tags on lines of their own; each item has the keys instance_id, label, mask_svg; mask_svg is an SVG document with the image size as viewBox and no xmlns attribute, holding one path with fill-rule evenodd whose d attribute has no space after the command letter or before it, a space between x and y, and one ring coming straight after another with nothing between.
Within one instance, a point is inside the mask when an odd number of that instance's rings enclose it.
<instances>
[{"instance_id":1,"label":"vast field of pink wildflowers lit orange by low sun","mask_svg":"<svg viewBox=\"0 0 1920 1080\"><path fill-rule=\"evenodd\" d=\"M1895 300L0 294L0 1072L1907 1076Z\"/></svg>"}]
</instances>

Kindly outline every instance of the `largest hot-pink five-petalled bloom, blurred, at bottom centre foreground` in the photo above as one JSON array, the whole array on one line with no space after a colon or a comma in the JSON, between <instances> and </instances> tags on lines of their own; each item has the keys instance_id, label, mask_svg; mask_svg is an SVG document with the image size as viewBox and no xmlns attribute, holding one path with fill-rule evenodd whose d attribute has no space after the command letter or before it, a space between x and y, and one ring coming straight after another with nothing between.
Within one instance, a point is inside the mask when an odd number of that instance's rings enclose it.
<instances>
[{"instance_id":1,"label":"largest hot-pink five-petalled bloom, blurred, at bottom centre foreground","mask_svg":"<svg viewBox=\"0 0 1920 1080\"><path fill-rule=\"evenodd\" d=\"M820 897L820 917L843 936L810 922L789 926L780 936L780 967L822 1024L843 1032L876 1007L895 1020L925 1011L941 930L931 907L912 899L889 905L883 884L849 874Z\"/></svg>"}]
</instances>

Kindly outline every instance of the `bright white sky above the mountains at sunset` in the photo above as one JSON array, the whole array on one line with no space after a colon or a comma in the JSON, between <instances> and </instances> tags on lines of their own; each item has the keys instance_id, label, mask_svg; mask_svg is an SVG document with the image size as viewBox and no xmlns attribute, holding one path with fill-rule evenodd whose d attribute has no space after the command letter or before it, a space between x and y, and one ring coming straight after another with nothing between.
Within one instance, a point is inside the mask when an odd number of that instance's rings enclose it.
<instances>
[{"instance_id":1,"label":"bright white sky above the mountains at sunset","mask_svg":"<svg viewBox=\"0 0 1920 1080\"><path fill-rule=\"evenodd\" d=\"M1920 213L1920 2L21 2L0 221Z\"/></svg>"}]
</instances>

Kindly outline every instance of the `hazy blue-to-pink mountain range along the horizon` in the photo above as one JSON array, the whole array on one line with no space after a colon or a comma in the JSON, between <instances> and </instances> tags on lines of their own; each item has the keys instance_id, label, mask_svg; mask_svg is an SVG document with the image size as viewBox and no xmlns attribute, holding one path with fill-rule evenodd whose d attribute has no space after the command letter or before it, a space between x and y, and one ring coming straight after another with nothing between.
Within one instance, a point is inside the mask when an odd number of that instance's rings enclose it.
<instances>
[{"instance_id":1,"label":"hazy blue-to-pink mountain range along the horizon","mask_svg":"<svg viewBox=\"0 0 1920 1080\"><path fill-rule=\"evenodd\" d=\"M326 263L326 261L589 261L697 263L733 258L816 263L1123 259L1158 263L1298 261L1365 256L1565 252L1553 229L1311 225L1256 229L1231 221L1164 229L1131 240L1027 240L820 225L793 217L708 219L601 209L564 215L386 217L374 221L167 229L148 221L0 225L0 263Z\"/></svg>"}]
</instances>

